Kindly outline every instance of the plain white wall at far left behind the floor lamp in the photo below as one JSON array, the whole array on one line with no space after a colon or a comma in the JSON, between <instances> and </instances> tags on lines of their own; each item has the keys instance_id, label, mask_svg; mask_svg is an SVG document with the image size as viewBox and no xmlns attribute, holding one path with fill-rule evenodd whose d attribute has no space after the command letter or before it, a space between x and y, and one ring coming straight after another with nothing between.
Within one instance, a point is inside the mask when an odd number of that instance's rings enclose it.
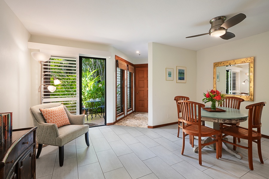
<instances>
[{"instance_id":1,"label":"plain white wall at far left behind the floor lamp","mask_svg":"<svg viewBox=\"0 0 269 179\"><path fill-rule=\"evenodd\" d=\"M30 33L0 0L0 112L13 112L13 129L33 126L30 116Z\"/></svg>"}]
</instances>

